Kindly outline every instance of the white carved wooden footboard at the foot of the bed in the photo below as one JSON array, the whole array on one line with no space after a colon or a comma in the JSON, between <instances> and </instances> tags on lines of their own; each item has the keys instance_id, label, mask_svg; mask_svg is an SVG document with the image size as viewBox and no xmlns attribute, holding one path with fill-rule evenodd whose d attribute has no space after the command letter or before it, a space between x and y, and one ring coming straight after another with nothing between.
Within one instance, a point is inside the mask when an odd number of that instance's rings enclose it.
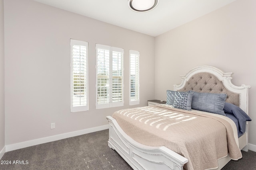
<instances>
[{"instance_id":1,"label":"white carved wooden footboard at the foot of the bed","mask_svg":"<svg viewBox=\"0 0 256 170\"><path fill-rule=\"evenodd\" d=\"M188 162L187 158L166 147L149 147L134 141L124 133L116 119L106 118L109 121L108 146L134 170L183 170Z\"/></svg>"}]
</instances>

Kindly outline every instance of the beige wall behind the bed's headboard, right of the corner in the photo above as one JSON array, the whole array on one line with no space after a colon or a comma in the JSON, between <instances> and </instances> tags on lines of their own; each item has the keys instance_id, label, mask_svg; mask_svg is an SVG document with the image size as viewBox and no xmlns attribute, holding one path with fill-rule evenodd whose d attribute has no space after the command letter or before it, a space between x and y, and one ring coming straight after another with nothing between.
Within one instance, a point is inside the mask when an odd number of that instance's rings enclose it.
<instances>
[{"instance_id":1,"label":"beige wall behind the bed's headboard, right of the corner","mask_svg":"<svg viewBox=\"0 0 256 170\"><path fill-rule=\"evenodd\" d=\"M180 84L180 75L210 65L234 72L233 84L250 85L249 143L256 145L256 1L237 0L155 39L155 97Z\"/></svg>"}]
</instances>

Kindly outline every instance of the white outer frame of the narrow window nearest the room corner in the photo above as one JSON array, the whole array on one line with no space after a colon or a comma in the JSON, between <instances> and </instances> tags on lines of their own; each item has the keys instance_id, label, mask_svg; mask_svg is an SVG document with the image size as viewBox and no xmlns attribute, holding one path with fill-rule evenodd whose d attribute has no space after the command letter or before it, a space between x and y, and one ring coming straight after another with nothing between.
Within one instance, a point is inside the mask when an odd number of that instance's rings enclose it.
<instances>
[{"instance_id":1,"label":"white outer frame of the narrow window nearest the room corner","mask_svg":"<svg viewBox=\"0 0 256 170\"><path fill-rule=\"evenodd\" d=\"M135 55L138 57L137 62L138 62L138 68L136 69L136 73L135 73L135 80L137 80L135 82L135 98L136 100L132 100L132 86L131 86L131 81L132 81L132 75L131 75L131 68L132 68L132 62L131 62L131 55ZM136 59L135 59L136 60ZM136 61L134 61L134 63L136 63ZM135 66L136 67L136 66ZM137 91L137 92L136 92ZM136 104L140 104L140 52L139 51L135 51L135 50L129 50L129 105L136 105Z\"/></svg>"}]
</instances>

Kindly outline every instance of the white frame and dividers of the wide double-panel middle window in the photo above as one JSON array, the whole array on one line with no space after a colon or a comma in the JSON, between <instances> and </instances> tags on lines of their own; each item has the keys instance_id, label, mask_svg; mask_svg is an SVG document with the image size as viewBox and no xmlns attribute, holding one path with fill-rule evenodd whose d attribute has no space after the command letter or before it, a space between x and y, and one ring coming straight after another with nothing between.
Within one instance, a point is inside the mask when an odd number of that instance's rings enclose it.
<instances>
[{"instance_id":1,"label":"white frame and dividers of the wide double-panel middle window","mask_svg":"<svg viewBox=\"0 0 256 170\"><path fill-rule=\"evenodd\" d=\"M98 49L99 50L106 50L109 51L109 70L108 70L108 76L102 76L102 78L108 79L108 89L106 90L106 94L108 95L108 102L105 103L99 103L98 102ZM102 109L102 108L108 108L108 107L119 107L119 106L124 106L124 49L122 48L118 48L118 47L110 47L108 45L101 45L101 44L96 44L95 47L95 51L96 51L96 109ZM118 102L113 102L113 78L118 78L116 76L113 75L113 52L117 52L117 53L121 53L122 54L122 62L121 62L121 73L122 76L118 76L119 78L122 79L122 96L121 96L121 101ZM104 62L105 63L105 62ZM105 85L105 86L107 86ZM120 98L118 98L119 100Z\"/></svg>"}]
</instances>

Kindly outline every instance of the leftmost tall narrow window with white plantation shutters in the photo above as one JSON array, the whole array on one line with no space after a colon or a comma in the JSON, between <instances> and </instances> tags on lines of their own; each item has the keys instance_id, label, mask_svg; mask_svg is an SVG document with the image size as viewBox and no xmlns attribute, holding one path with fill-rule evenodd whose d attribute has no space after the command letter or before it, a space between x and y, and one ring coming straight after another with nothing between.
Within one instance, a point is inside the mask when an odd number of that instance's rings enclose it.
<instances>
[{"instance_id":1,"label":"leftmost tall narrow window with white plantation shutters","mask_svg":"<svg viewBox=\"0 0 256 170\"><path fill-rule=\"evenodd\" d=\"M88 42L70 39L71 112L88 110Z\"/></svg>"}]
</instances>

